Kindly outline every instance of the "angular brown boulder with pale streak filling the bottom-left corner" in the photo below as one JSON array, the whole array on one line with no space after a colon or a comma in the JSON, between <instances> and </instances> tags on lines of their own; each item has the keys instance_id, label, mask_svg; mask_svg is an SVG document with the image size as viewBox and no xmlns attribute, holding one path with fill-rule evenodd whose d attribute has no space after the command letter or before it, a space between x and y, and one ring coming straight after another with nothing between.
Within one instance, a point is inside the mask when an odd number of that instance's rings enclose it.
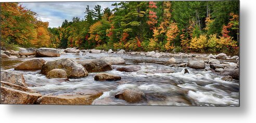
<instances>
[{"instance_id":1,"label":"angular brown boulder with pale streak filling the bottom-left corner","mask_svg":"<svg viewBox=\"0 0 256 123\"><path fill-rule=\"evenodd\" d=\"M1 81L1 104L34 104L41 96L28 88Z\"/></svg>"}]
</instances>

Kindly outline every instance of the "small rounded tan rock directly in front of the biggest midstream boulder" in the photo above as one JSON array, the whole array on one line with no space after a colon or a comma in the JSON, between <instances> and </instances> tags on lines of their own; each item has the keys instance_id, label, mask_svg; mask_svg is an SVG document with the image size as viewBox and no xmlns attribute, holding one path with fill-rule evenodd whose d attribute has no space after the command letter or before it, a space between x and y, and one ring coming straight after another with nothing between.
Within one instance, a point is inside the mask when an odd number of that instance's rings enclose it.
<instances>
[{"instance_id":1,"label":"small rounded tan rock directly in front of the biggest midstream boulder","mask_svg":"<svg viewBox=\"0 0 256 123\"><path fill-rule=\"evenodd\" d=\"M68 78L67 72L62 69L53 69L47 72L47 78Z\"/></svg>"}]
</instances>

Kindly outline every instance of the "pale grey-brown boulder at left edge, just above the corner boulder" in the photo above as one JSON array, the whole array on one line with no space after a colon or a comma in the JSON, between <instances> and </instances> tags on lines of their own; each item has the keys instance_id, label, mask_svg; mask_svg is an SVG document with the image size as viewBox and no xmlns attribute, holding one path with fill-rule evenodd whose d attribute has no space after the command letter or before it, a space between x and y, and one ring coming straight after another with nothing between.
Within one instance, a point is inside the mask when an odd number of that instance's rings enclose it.
<instances>
[{"instance_id":1,"label":"pale grey-brown boulder at left edge, just above the corner boulder","mask_svg":"<svg viewBox=\"0 0 256 123\"><path fill-rule=\"evenodd\" d=\"M8 81L8 83L12 83L22 87L28 86L25 83L23 74L14 71L1 70L1 81Z\"/></svg>"}]
</instances>

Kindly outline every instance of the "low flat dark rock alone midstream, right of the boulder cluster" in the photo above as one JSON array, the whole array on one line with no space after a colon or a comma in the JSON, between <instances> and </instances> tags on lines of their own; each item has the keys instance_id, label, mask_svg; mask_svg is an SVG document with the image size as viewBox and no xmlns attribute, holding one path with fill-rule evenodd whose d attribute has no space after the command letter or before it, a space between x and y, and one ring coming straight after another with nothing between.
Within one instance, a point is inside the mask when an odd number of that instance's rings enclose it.
<instances>
[{"instance_id":1,"label":"low flat dark rock alone midstream, right of the boulder cluster","mask_svg":"<svg viewBox=\"0 0 256 123\"><path fill-rule=\"evenodd\" d=\"M96 81L116 81L116 80L121 80L121 76L116 76L108 73L99 73L96 74L94 77L94 80Z\"/></svg>"}]
</instances>

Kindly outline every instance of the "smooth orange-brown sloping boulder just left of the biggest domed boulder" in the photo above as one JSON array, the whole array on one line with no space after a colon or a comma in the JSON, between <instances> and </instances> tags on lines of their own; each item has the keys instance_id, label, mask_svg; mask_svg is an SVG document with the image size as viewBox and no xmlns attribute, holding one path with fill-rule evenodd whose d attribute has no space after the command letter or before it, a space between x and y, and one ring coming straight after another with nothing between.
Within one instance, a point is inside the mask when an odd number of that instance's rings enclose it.
<instances>
[{"instance_id":1,"label":"smooth orange-brown sloping boulder just left of the biggest domed boulder","mask_svg":"<svg viewBox=\"0 0 256 123\"><path fill-rule=\"evenodd\" d=\"M14 68L14 70L41 70L42 65L46 61L43 59L31 59L27 61L23 61L18 66Z\"/></svg>"}]
</instances>

